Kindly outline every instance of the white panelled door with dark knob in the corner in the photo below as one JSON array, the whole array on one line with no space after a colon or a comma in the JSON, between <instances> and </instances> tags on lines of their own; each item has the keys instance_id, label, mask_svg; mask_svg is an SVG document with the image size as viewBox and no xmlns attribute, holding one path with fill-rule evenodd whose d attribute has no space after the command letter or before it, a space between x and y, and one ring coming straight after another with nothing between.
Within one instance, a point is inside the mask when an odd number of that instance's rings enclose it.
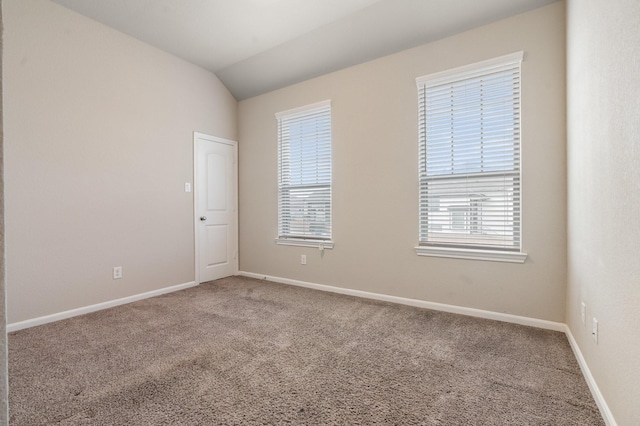
<instances>
[{"instance_id":1,"label":"white panelled door with dark knob in the corner","mask_svg":"<svg viewBox=\"0 0 640 426\"><path fill-rule=\"evenodd\" d=\"M196 280L237 273L237 144L193 134Z\"/></svg>"}]
</instances>

